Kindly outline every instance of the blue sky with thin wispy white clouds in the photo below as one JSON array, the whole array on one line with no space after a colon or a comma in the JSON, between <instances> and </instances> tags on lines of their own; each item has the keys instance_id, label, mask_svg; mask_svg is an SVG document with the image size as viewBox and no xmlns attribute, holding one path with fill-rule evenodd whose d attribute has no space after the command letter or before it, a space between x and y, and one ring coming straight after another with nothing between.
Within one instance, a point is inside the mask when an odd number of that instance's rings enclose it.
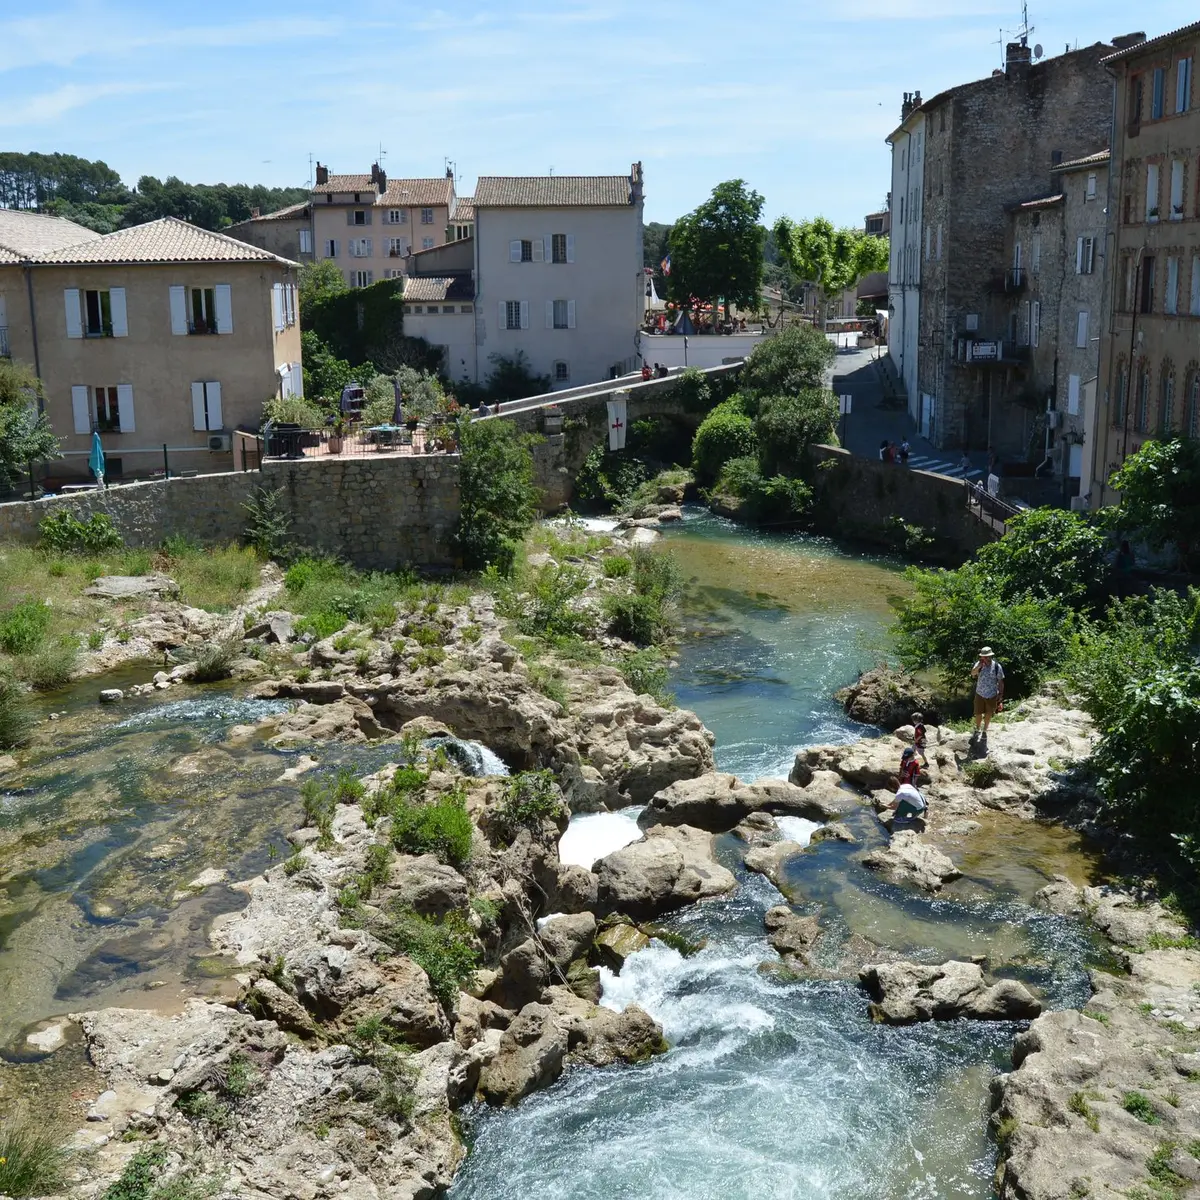
<instances>
[{"instance_id":1,"label":"blue sky with thin wispy white clouds","mask_svg":"<svg viewBox=\"0 0 1200 1200\"><path fill-rule=\"evenodd\" d=\"M302 185L457 163L617 174L641 158L647 220L740 176L766 216L858 223L889 180L901 94L998 65L1019 0L40 0L0 4L0 148L194 182ZM1034 2L1048 54L1195 19L1112 0ZM1135 23L1136 22L1136 23Z\"/></svg>"}]
</instances>

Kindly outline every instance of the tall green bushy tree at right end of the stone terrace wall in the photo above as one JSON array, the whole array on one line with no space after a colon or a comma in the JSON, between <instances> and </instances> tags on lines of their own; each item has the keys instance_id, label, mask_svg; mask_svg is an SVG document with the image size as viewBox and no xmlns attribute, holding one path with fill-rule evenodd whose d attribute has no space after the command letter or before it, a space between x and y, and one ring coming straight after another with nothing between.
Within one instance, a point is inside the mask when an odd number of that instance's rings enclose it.
<instances>
[{"instance_id":1,"label":"tall green bushy tree at right end of the stone terrace wall","mask_svg":"<svg viewBox=\"0 0 1200 1200\"><path fill-rule=\"evenodd\" d=\"M455 544L469 568L512 570L517 540L538 512L529 438L511 421L458 418L458 524Z\"/></svg>"}]
</instances>

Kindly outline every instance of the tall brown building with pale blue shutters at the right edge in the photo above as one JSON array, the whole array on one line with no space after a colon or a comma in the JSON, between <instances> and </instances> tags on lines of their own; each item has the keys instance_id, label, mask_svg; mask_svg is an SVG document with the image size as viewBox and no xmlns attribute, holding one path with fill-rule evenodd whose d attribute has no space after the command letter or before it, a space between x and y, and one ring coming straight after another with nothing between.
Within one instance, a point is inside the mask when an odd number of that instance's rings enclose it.
<instances>
[{"instance_id":1,"label":"tall brown building with pale blue shutters at the right edge","mask_svg":"<svg viewBox=\"0 0 1200 1200\"><path fill-rule=\"evenodd\" d=\"M1200 22L1105 58L1115 79L1092 503L1142 442L1200 437Z\"/></svg>"}]
</instances>

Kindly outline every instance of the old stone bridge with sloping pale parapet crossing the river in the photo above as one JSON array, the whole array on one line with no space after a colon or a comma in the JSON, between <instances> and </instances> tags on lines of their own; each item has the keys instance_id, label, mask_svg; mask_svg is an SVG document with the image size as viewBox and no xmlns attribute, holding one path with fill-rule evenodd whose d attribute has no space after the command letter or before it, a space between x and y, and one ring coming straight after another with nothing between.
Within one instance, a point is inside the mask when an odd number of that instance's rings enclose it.
<instances>
[{"instance_id":1,"label":"old stone bridge with sloping pale parapet crossing the river","mask_svg":"<svg viewBox=\"0 0 1200 1200\"><path fill-rule=\"evenodd\" d=\"M742 371L732 362L701 371L715 384ZM571 500L575 478L595 446L608 438L607 402L617 392L626 394L629 422L656 416L677 422L690 437L704 419L704 412L689 410L678 388L680 368L661 379L643 380L640 374L624 376L587 388L552 391L545 396L515 400L500 407L499 420L509 420L524 433L542 433L545 440L533 448L534 481L542 491L542 509L553 512ZM557 408L563 416L563 432L546 432L546 412ZM486 418L496 420L497 418Z\"/></svg>"}]
</instances>

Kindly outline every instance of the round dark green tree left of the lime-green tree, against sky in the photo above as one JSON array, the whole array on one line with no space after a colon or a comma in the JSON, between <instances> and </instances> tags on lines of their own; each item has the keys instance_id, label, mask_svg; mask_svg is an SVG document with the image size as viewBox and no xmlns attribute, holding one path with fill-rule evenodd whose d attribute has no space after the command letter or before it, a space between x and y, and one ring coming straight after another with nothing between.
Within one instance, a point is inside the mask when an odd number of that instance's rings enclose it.
<instances>
[{"instance_id":1,"label":"round dark green tree left of the lime-green tree, against sky","mask_svg":"<svg viewBox=\"0 0 1200 1200\"><path fill-rule=\"evenodd\" d=\"M762 300L762 251L767 230L758 224L763 199L745 181L718 184L713 194L671 230L670 298L683 308L694 301L725 301L757 308Z\"/></svg>"}]
</instances>

